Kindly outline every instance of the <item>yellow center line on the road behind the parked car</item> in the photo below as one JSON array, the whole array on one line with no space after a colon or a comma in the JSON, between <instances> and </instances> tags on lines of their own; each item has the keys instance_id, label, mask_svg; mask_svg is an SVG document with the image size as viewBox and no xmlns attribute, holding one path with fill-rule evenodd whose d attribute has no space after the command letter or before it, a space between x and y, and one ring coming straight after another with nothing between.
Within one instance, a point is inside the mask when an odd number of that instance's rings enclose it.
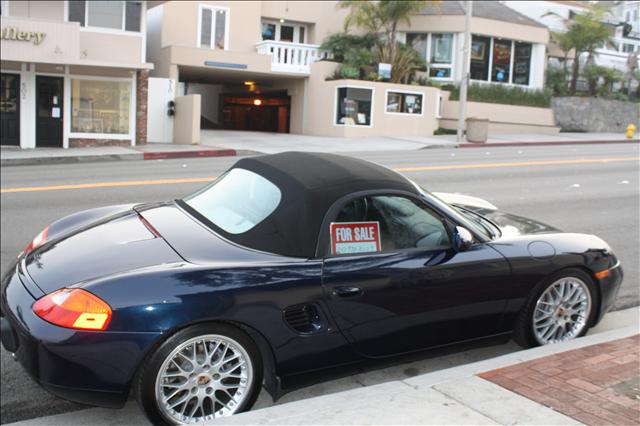
<instances>
[{"instance_id":1,"label":"yellow center line on the road behind the parked car","mask_svg":"<svg viewBox=\"0 0 640 426\"><path fill-rule=\"evenodd\" d=\"M520 161L510 163L479 163L479 164L449 164L443 166L418 166L418 167L401 167L394 169L397 172L424 172L437 170L459 170L459 169L495 169L505 167L527 167L527 166L554 166L564 164L603 164L615 163L621 161L640 161L640 157L610 157L610 158L583 158L576 160L545 160L545 161ZM79 183L70 185L51 185L51 186L31 186L23 188L2 188L0 193L14 192L36 192L36 191L60 191L65 189L91 189L91 188L116 188L123 186L141 186L141 185L172 185L176 183L199 183L209 182L214 176L200 178L177 178L177 179L152 179L152 180L130 180L120 182L95 182L95 183Z\"/></svg>"}]
</instances>

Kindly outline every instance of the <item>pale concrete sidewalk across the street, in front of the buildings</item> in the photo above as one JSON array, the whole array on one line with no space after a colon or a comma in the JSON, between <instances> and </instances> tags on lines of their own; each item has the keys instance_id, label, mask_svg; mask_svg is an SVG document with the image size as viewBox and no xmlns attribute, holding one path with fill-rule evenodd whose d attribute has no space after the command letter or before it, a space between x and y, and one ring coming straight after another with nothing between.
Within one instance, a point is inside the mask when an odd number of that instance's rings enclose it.
<instances>
[{"instance_id":1,"label":"pale concrete sidewalk across the street, in front of the buildings","mask_svg":"<svg viewBox=\"0 0 640 426\"><path fill-rule=\"evenodd\" d=\"M157 160L275 154L284 151L331 153L412 151L429 148L484 148L500 146L548 146L567 144L638 143L617 133L496 134L486 143L458 144L455 135L424 137L332 138L232 130L203 130L199 145L148 144L136 147L19 149L2 146L0 165L67 164L78 162Z\"/></svg>"}]
</instances>

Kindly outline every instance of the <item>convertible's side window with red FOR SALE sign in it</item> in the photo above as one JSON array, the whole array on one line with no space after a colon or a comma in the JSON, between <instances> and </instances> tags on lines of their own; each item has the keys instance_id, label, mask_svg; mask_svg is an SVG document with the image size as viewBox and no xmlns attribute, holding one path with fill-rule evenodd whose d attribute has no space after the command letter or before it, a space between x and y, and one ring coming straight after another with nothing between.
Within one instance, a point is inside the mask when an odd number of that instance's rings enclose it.
<instances>
[{"instance_id":1,"label":"convertible's side window with red FOR SALE sign in it","mask_svg":"<svg viewBox=\"0 0 640 426\"><path fill-rule=\"evenodd\" d=\"M357 198L342 208L331 226L332 254L450 246L441 218L401 196Z\"/></svg>"}]
</instances>

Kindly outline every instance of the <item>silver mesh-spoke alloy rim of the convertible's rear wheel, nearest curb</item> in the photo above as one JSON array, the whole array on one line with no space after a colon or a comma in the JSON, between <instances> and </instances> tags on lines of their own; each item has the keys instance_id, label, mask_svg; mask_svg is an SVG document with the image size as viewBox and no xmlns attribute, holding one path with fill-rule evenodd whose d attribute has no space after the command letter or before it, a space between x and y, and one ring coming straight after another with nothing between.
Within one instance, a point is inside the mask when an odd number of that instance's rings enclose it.
<instances>
[{"instance_id":1,"label":"silver mesh-spoke alloy rim of the convertible's rear wheel, nearest curb","mask_svg":"<svg viewBox=\"0 0 640 426\"><path fill-rule=\"evenodd\" d=\"M249 396L253 365L235 340L210 334L175 348L156 377L160 411L179 424L234 414Z\"/></svg>"}]
</instances>

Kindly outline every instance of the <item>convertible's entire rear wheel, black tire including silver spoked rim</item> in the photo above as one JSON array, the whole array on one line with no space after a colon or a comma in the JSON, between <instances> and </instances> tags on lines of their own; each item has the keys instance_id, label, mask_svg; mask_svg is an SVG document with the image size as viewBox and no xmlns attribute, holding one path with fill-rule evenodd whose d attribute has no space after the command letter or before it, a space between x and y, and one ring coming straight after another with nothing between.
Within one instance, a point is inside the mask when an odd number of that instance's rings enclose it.
<instances>
[{"instance_id":1,"label":"convertible's entire rear wheel, black tire including silver spoked rim","mask_svg":"<svg viewBox=\"0 0 640 426\"><path fill-rule=\"evenodd\" d=\"M198 324L147 357L134 391L151 423L175 425L249 410L262 378L260 351L246 333L228 324Z\"/></svg>"}]
</instances>

